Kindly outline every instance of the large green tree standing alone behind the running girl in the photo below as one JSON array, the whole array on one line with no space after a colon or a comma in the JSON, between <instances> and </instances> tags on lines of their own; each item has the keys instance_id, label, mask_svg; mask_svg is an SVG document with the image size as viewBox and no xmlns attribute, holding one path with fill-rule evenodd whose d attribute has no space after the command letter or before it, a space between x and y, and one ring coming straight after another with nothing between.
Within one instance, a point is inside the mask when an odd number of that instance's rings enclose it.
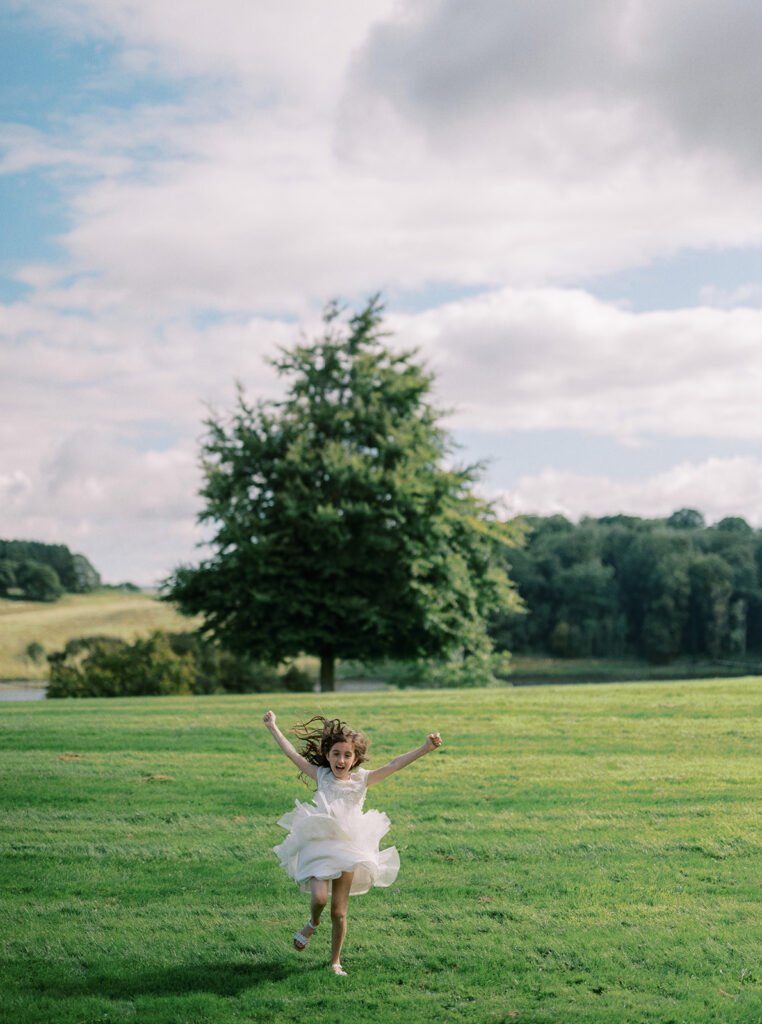
<instances>
[{"instance_id":1,"label":"large green tree standing alone behind the running girl","mask_svg":"<svg viewBox=\"0 0 762 1024\"><path fill-rule=\"evenodd\" d=\"M371 300L274 361L278 403L239 391L207 421L205 507L213 554L166 596L224 645L272 662L305 652L334 686L337 657L483 653L485 617L508 600L495 558L504 527L446 466L432 378L383 342Z\"/></svg>"}]
</instances>

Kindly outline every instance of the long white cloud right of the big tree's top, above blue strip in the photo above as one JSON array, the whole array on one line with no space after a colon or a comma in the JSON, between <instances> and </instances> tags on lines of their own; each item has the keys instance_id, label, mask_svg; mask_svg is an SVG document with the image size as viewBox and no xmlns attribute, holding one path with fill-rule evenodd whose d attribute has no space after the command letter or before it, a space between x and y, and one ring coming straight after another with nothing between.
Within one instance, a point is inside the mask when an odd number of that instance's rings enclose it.
<instances>
[{"instance_id":1,"label":"long white cloud right of the big tree's top, above blue strip","mask_svg":"<svg viewBox=\"0 0 762 1024\"><path fill-rule=\"evenodd\" d=\"M393 321L460 428L762 437L759 309L635 313L504 289Z\"/></svg>"}]
</instances>

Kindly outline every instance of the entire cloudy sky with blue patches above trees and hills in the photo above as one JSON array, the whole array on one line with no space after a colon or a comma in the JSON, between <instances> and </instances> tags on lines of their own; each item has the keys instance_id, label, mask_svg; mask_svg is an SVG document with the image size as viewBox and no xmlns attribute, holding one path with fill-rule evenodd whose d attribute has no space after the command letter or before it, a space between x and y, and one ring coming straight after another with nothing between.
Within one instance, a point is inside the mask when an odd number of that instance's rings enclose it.
<instances>
[{"instance_id":1,"label":"entire cloudy sky with blue patches above trees and hills","mask_svg":"<svg viewBox=\"0 0 762 1024\"><path fill-rule=\"evenodd\" d=\"M201 557L210 410L381 292L505 515L762 527L756 0L0 0L0 537Z\"/></svg>"}]
</instances>

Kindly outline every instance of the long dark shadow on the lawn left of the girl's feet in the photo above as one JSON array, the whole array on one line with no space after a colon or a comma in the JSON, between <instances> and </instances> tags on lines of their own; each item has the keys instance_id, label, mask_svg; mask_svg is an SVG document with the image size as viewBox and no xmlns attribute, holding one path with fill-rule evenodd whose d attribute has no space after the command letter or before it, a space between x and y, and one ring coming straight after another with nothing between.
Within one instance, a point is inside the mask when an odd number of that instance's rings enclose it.
<instances>
[{"instance_id":1,"label":"long dark shadow on the lawn left of the girl's feet","mask_svg":"<svg viewBox=\"0 0 762 1024\"><path fill-rule=\"evenodd\" d=\"M303 974L305 965L284 964L182 964L133 971L123 966L118 972L95 969L86 974L53 974L49 969L29 973L24 988L37 995L58 998L99 995L112 999L133 999L140 995L178 995L207 992L213 995L238 995L247 988L265 982L278 982L294 974ZM310 965L311 967L311 965ZM307 967L309 970L309 967Z\"/></svg>"}]
</instances>

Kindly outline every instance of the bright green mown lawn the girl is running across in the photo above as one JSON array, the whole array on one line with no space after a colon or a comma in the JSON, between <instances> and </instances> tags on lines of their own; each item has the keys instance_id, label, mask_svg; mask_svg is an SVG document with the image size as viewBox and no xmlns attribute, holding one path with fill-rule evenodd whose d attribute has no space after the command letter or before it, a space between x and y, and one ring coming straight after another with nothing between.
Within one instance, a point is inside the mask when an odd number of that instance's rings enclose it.
<instances>
[{"instance_id":1,"label":"bright green mown lawn the girl is running across","mask_svg":"<svg viewBox=\"0 0 762 1024\"><path fill-rule=\"evenodd\" d=\"M758 1024L761 701L746 679L6 706L2 1020ZM347 978L329 927L291 948L306 898L270 847L308 791L267 707L340 714L372 765L444 736L370 792L401 870L350 901Z\"/></svg>"}]
</instances>

